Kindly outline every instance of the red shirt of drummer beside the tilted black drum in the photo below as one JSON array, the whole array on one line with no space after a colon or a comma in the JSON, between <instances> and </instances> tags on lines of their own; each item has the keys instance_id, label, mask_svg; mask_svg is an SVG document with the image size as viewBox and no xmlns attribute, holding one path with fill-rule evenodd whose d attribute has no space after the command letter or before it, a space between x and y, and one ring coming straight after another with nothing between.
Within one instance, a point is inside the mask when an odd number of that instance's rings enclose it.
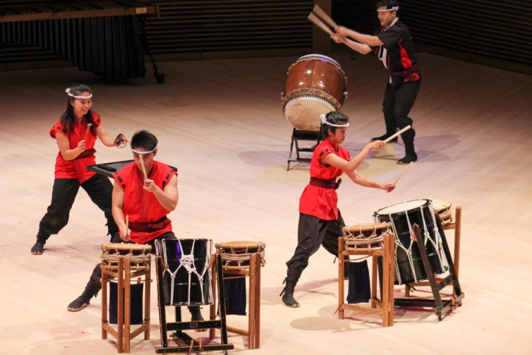
<instances>
[{"instance_id":1,"label":"red shirt of drummer beside the tilted black drum","mask_svg":"<svg viewBox=\"0 0 532 355\"><path fill-rule=\"evenodd\" d=\"M331 153L346 160L351 159L348 150L342 148L342 146L335 147L332 141L327 138L314 149L310 161L311 178L330 180L338 178L344 173L342 169L330 165L326 166L319 162L319 159ZM336 220L338 219L337 202L338 196L335 189L325 189L308 184L303 193L301 193L301 198L299 198L299 212L310 214L323 220Z\"/></svg>"}]
</instances>

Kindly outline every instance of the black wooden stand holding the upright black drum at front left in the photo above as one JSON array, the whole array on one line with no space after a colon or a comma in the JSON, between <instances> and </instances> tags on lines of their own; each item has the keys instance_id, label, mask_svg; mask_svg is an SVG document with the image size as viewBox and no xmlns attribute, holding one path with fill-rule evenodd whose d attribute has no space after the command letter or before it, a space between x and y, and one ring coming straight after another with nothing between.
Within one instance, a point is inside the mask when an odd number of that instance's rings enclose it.
<instances>
[{"instance_id":1,"label":"black wooden stand holding the upright black drum at front left","mask_svg":"<svg viewBox=\"0 0 532 355\"><path fill-rule=\"evenodd\" d=\"M214 261L214 260L213 260ZM222 258L220 255L215 254L216 268L220 269L222 266ZM222 282L222 275L218 275L218 295L220 295L220 319L213 320L215 317L211 317L211 320L180 322L181 309L179 306L175 306L176 322L166 322L166 306L164 302L163 291L163 257L156 257L157 267L157 293L159 295L159 319L161 321L161 347L156 347L155 352L157 354L166 354L174 352L211 352L216 350L222 350L224 354L227 354L227 350L234 348L233 344L227 343L227 324L225 319L225 300L224 300L224 284ZM190 338L188 334L183 331L186 329L220 329L220 338L222 343L220 344L202 344L200 339L199 343L195 343L193 338ZM179 340L182 340L187 346L168 346L168 331L176 331L176 336Z\"/></svg>"}]
</instances>

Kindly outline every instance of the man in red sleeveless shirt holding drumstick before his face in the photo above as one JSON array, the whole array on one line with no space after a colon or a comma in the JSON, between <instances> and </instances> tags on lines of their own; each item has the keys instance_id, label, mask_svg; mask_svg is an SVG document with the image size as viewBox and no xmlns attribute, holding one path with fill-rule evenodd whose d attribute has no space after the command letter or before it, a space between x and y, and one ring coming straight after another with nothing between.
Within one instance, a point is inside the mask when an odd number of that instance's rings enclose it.
<instances>
[{"instance_id":1,"label":"man in red sleeveless shirt holding drumstick before his face","mask_svg":"<svg viewBox=\"0 0 532 355\"><path fill-rule=\"evenodd\" d=\"M167 215L174 211L179 200L177 171L157 162L157 137L147 130L135 132L131 139L134 162L113 174L112 211L120 229L115 241L148 244L155 252L155 241L177 239L172 232L172 223ZM140 159L143 159L148 178L145 179ZM126 228L125 216L129 224ZM94 268L80 297L73 300L67 309L80 311L89 305L92 297L101 288L101 264ZM189 306L193 321L203 320L199 306Z\"/></svg>"}]
</instances>

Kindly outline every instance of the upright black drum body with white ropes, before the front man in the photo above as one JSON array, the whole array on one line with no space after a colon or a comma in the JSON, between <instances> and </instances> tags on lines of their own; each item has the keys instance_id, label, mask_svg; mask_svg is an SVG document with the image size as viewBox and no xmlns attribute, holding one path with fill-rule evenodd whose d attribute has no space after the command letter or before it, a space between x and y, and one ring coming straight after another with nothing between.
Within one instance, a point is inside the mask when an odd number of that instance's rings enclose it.
<instances>
[{"instance_id":1,"label":"upright black drum body with white ropes, before the front man","mask_svg":"<svg viewBox=\"0 0 532 355\"><path fill-rule=\"evenodd\" d=\"M166 306L213 304L211 239L163 240L163 296Z\"/></svg>"}]
</instances>

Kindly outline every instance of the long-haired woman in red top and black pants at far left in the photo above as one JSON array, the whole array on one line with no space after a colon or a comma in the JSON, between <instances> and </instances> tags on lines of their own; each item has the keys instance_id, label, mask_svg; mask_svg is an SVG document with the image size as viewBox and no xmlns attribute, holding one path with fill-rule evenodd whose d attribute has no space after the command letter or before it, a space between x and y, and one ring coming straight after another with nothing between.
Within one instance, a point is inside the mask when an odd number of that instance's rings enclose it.
<instances>
[{"instance_id":1,"label":"long-haired woman in red top and black pants at far left","mask_svg":"<svg viewBox=\"0 0 532 355\"><path fill-rule=\"evenodd\" d=\"M57 234L67 225L80 186L104 211L108 234L114 236L118 232L111 211L113 186L105 176L88 171L87 166L96 164L96 138L111 147L121 145L125 137L118 135L113 139L103 128L102 118L91 111L92 90L89 87L75 84L66 92L69 95L67 110L50 130L51 137L57 141L59 153L55 159L52 201L39 223L37 241L31 248L34 255L42 254L51 234Z\"/></svg>"}]
</instances>

